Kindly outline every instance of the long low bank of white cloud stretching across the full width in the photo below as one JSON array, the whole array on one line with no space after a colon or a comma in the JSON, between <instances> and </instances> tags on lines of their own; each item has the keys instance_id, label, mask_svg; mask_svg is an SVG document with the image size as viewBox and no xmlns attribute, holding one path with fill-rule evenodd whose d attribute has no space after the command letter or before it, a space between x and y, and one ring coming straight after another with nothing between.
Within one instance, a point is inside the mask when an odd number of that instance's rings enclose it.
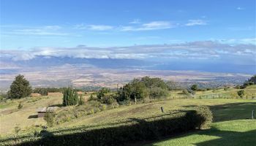
<instances>
[{"instance_id":1,"label":"long low bank of white cloud stretching across the full width","mask_svg":"<svg viewBox=\"0 0 256 146\"><path fill-rule=\"evenodd\" d=\"M244 41L247 41L246 39ZM31 50L1 50L1 56L12 60L31 60L37 56L70 58L197 58L214 59L225 55L256 55L255 45L228 45L213 41L184 42L170 45L135 45L128 47L39 47Z\"/></svg>"}]
</instances>

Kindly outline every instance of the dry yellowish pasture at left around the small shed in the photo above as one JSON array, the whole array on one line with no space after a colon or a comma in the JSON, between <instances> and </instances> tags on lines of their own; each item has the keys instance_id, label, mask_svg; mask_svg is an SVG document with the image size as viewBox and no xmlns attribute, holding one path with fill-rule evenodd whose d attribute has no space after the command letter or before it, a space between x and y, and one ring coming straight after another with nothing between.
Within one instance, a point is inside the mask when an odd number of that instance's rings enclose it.
<instances>
[{"instance_id":1,"label":"dry yellowish pasture at left around the small shed","mask_svg":"<svg viewBox=\"0 0 256 146\"><path fill-rule=\"evenodd\" d=\"M36 118L37 108L46 107L52 104L60 104L62 97L36 97L27 99L18 99L16 101L10 101L10 103L3 104L0 134L10 134L14 131L14 127L18 124L21 128L26 126L45 124L42 118ZM24 107L18 110L19 102L22 102ZM34 115L34 116L33 116Z\"/></svg>"}]
</instances>

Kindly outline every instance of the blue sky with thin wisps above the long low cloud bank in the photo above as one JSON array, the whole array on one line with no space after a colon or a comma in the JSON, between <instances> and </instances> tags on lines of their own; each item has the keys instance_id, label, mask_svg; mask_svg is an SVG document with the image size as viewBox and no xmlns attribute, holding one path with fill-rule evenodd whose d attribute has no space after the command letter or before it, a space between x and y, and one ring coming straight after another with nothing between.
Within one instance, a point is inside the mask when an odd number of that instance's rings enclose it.
<instances>
[{"instance_id":1,"label":"blue sky with thin wisps above the long low cloud bank","mask_svg":"<svg viewBox=\"0 0 256 146\"><path fill-rule=\"evenodd\" d=\"M2 0L1 49L255 42L255 1Z\"/></svg>"}]
</instances>

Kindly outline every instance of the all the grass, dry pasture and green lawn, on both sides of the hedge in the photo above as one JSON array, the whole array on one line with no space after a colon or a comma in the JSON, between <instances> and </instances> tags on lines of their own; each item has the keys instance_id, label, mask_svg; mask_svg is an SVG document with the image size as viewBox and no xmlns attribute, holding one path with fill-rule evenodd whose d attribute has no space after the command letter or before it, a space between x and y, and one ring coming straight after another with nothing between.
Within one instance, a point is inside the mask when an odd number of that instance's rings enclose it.
<instances>
[{"instance_id":1,"label":"all the grass, dry pasture and green lawn, on both sides of the hedge","mask_svg":"<svg viewBox=\"0 0 256 146\"><path fill-rule=\"evenodd\" d=\"M227 91L219 89L215 93L221 95L233 95L237 89L230 88ZM200 98L200 96L211 95L213 91L197 92L194 99L182 99L181 91L173 92L169 98L163 101L132 104L120 106L112 110L104 110L91 115L83 115L49 128L49 131L67 131L79 127L107 126L113 123L124 123L131 119L162 115L160 107L164 108L165 114L173 114L184 110L190 110L197 105L207 105L214 114L212 128L204 131L194 131L182 134L171 139L157 142L143 142L136 145L252 145L255 142L256 120L251 118L252 110L256 110L256 100L252 96L256 93L255 86L246 88L247 99L219 99ZM24 107L18 110L18 104L22 101ZM1 104L1 137L9 137L14 133L14 127L20 126L21 133L26 133L31 126L45 125L42 118L36 117L38 107L59 106L61 107L62 97L28 97L15 101L8 101ZM69 107L70 109L75 107ZM14 120L15 119L15 120ZM74 131L72 131L74 132Z\"/></svg>"}]
</instances>

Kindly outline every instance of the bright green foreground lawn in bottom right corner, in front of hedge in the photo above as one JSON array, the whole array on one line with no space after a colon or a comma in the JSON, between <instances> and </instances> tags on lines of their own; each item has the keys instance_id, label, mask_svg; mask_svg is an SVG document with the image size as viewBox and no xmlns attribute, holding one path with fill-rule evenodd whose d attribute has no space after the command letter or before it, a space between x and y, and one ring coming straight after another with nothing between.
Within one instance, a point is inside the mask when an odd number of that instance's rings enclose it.
<instances>
[{"instance_id":1,"label":"bright green foreground lawn in bottom right corner, in front of hedge","mask_svg":"<svg viewBox=\"0 0 256 146\"><path fill-rule=\"evenodd\" d=\"M256 120L230 120L214 123L211 129L195 131L146 146L164 145L255 145Z\"/></svg>"}]
</instances>

